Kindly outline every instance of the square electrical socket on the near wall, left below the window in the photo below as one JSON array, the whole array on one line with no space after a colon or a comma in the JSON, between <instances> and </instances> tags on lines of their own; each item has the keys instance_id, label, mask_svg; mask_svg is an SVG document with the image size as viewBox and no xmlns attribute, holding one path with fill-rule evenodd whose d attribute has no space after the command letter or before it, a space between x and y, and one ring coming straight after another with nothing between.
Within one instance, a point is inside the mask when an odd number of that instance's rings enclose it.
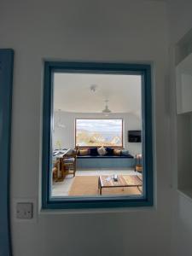
<instances>
[{"instance_id":1,"label":"square electrical socket on the near wall, left below the window","mask_svg":"<svg viewBox=\"0 0 192 256\"><path fill-rule=\"evenodd\" d=\"M33 217L32 202L18 202L16 204L16 218L31 219Z\"/></svg>"}]
</instances>

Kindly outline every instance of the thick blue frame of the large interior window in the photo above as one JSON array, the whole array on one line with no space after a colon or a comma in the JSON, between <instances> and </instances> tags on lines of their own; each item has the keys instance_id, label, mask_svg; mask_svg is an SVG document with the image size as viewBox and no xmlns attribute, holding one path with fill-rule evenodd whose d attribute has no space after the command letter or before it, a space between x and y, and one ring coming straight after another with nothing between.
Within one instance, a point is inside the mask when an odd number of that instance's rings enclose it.
<instances>
[{"instance_id":1,"label":"thick blue frame of the large interior window","mask_svg":"<svg viewBox=\"0 0 192 256\"><path fill-rule=\"evenodd\" d=\"M116 73L141 75L143 112L143 195L51 197L51 159L53 127L53 73ZM153 187L153 130L151 66L149 64L44 61L43 93L43 152L42 152L42 208L83 209L114 207L151 207L154 201Z\"/></svg>"}]
</instances>

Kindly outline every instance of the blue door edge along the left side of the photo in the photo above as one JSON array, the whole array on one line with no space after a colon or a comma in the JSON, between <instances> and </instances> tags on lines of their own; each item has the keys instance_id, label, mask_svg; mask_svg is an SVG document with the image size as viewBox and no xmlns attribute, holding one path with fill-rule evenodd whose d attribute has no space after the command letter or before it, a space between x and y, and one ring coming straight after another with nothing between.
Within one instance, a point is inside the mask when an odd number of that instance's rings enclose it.
<instances>
[{"instance_id":1,"label":"blue door edge along the left side of the photo","mask_svg":"<svg viewBox=\"0 0 192 256\"><path fill-rule=\"evenodd\" d=\"M10 145L14 50L0 49L0 256L11 256Z\"/></svg>"}]
</instances>

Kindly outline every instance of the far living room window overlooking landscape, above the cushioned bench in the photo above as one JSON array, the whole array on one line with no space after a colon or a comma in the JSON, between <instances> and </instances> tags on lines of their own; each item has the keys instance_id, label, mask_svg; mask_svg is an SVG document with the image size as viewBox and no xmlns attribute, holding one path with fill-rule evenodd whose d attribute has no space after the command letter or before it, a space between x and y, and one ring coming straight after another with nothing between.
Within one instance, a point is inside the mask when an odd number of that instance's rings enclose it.
<instances>
[{"instance_id":1,"label":"far living room window overlooking landscape, above the cushioned bench","mask_svg":"<svg viewBox=\"0 0 192 256\"><path fill-rule=\"evenodd\" d=\"M123 119L76 119L75 146L123 147Z\"/></svg>"}]
</instances>

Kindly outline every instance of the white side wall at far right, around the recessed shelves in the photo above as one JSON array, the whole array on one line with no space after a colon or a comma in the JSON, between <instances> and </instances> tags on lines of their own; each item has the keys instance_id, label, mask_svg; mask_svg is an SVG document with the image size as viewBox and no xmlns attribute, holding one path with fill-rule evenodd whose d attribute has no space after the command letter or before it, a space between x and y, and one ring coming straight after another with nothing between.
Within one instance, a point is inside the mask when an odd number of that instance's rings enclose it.
<instances>
[{"instance_id":1,"label":"white side wall at far right, around the recessed shelves","mask_svg":"<svg viewBox=\"0 0 192 256\"><path fill-rule=\"evenodd\" d=\"M172 129L172 256L192 254L192 201L177 191L177 159L181 158L180 148L184 142L177 141L177 125L184 126L182 117L176 115L175 62L177 63L176 44L192 28L192 2L171 0L168 5L170 26L170 82L171 82L171 129ZM178 127L178 128L179 128ZM180 128L179 128L180 129ZM185 132L185 131L184 131ZM187 142L186 142L187 143ZM178 148L178 151L177 151ZM186 150L186 147L185 149ZM177 154L178 153L178 154ZM191 160L191 158L190 158ZM192 170L183 170L192 172ZM179 185L179 184L178 184Z\"/></svg>"}]
</instances>

